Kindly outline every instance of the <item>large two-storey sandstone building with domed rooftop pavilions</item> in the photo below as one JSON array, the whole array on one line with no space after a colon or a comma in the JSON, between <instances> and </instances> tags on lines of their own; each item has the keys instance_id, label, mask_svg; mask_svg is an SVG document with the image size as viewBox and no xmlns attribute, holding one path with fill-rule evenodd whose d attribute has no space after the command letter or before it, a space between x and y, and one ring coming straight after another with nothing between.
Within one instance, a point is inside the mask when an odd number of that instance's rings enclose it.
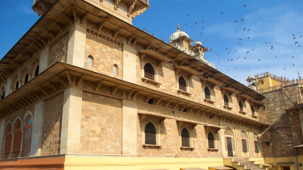
<instances>
[{"instance_id":1,"label":"large two-storey sandstone building with domed rooftop pavilions","mask_svg":"<svg viewBox=\"0 0 303 170\"><path fill-rule=\"evenodd\" d=\"M148 0L35 0L0 61L1 169L267 169L265 96L217 71L179 26L133 26Z\"/></svg>"}]
</instances>

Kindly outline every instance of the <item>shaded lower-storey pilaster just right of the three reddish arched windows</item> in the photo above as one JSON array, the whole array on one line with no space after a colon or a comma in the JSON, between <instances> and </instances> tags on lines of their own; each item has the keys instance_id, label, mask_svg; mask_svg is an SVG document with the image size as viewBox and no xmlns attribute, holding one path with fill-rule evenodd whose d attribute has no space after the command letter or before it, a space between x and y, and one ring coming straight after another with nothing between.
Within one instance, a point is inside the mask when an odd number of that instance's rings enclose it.
<instances>
[{"instance_id":1,"label":"shaded lower-storey pilaster just right of the three reddish arched windows","mask_svg":"<svg viewBox=\"0 0 303 170\"><path fill-rule=\"evenodd\" d=\"M40 156L44 116L44 101L35 104L30 156Z\"/></svg>"}]
</instances>

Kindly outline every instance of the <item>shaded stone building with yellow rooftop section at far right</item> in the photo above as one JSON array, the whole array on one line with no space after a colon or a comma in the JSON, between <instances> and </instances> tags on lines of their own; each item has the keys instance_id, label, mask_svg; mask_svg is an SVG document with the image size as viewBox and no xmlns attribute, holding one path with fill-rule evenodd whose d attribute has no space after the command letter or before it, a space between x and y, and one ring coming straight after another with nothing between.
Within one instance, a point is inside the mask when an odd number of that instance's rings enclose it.
<instances>
[{"instance_id":1,"label":"shaded stone building with yellow rooftop section at far right","mask_svg":"<svg viewBox=\"0 0 303 170\"><path fill-rule=\"evenodd\" d=\"M248 87L266 98L259 119L269 126L262 132L265 163L271 169L302 169L303 80L288 80L268 72L248 76Z\"/></svg>"}]
</instances>

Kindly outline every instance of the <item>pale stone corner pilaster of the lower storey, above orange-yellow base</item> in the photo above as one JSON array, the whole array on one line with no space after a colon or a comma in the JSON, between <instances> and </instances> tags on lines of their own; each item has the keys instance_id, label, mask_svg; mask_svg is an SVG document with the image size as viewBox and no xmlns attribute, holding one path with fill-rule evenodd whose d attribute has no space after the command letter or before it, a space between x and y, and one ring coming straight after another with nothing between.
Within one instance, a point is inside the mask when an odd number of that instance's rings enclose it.
<instances>
[{"instance_id":1,"label":"pale stone corner pilaster of the lower storey, above orange-yellow base","mask_svg":"<svg viewBox=\"0 0 303 170\"><path fill-rule=\"evenodd\" d=\"M70 87L64 91L60 154L80 150L82 90Z\"/></svg>"}]
</instances>

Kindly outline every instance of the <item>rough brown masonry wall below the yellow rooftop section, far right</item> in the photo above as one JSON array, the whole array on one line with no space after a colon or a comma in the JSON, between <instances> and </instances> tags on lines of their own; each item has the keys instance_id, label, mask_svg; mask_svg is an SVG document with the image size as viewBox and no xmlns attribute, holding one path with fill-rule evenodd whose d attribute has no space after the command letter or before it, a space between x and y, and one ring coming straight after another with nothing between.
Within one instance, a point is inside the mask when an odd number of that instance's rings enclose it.
<instances>
[{"instance_id":1,"label":"rough brown masonry wall below the yellow rooftop section, far right","mask_svg":"<svg viewBox=\"0 0 303 170\"><path fill-rule=\"evenodd\" d=\"M298 84L263 95L266 105L264 111L259 111L259 119L270 125L261 134L262 142L267 142L262 143L264 156L295 154L295 149L291 147L303 141L300 118L298 113L287 113L283 109L295 106L293 102L300 97Z\"/></svg>"}]
</instances>

